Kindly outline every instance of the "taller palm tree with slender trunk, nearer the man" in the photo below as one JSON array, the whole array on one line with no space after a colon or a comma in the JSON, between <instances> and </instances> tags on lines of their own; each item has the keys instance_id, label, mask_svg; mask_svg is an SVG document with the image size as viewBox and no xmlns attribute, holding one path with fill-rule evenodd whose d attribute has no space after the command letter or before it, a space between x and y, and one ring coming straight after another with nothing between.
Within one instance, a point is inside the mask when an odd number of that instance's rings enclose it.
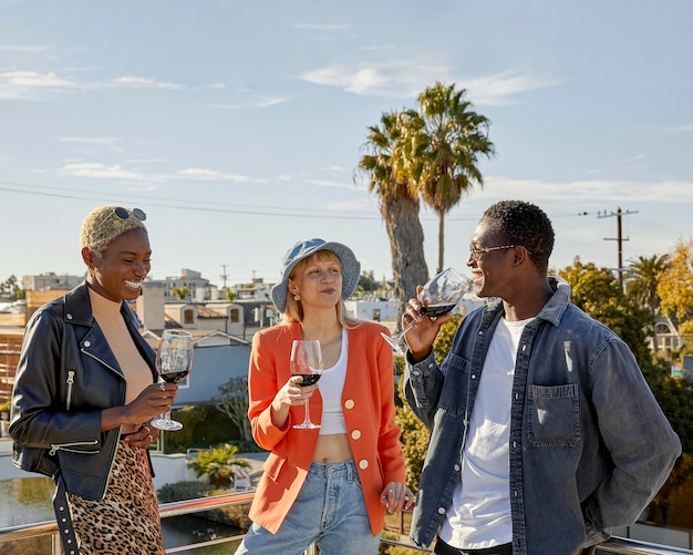
<instances>
[{"instance_id":1,"label":"taller palm tree with slender trunk, nearer the man","mask_svg":"<svg viewBox=\"0 0 693 555\"><path fill-rule=\"evenodd\" d=\"M417 130L411 143L411 172L423 201L438 216L438 269L443 270L445 214L474 184L484 186L479 156L496 154L490 122L472 110L466 90L436 82L418 95Z\"/></svg>"}]
</instances>

